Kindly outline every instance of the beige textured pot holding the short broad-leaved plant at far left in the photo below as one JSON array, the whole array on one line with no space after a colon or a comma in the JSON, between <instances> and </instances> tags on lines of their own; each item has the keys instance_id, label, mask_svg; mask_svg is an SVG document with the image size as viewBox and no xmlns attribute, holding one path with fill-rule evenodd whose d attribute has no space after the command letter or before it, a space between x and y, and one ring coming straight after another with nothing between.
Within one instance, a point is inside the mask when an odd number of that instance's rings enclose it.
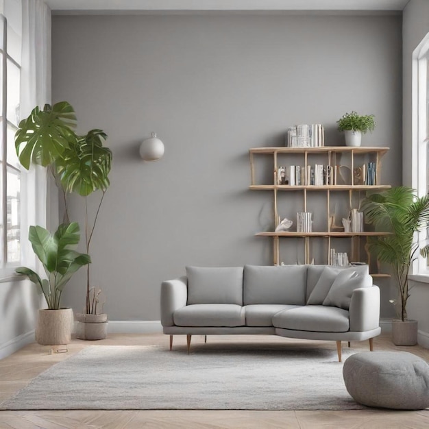
<instances>
[{"instance_id":1,"label":"beige textured pot holding the short broad-leaved plant at far left","mask_svg":"<svg viewBox=\"0 0 429 429\"><path fill-rule=\"evenodd\" d=\"M66 345L71 340L73 310L39 310L36 326L36 341L41 345Z\"/></svg>"}]
</instances>

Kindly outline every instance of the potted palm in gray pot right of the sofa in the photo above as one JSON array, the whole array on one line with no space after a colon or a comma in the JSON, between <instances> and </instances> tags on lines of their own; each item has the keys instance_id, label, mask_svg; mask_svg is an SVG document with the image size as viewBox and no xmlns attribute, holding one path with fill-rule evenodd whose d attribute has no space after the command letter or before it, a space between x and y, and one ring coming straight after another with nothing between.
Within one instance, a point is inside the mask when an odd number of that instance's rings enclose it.
<instances>
[{"instance_id":1,"label":"potted palm in gray pot right of the sofa","mask_svg":"<svg viewBox=\"0 0 429 429\"><path fill-rule=\"evenodd\" d=\"M415 345L417 321L409 320L406 312L410 297L408 273L418 252L425 257L429 254L429 245L420 243L417 236L417 232L429 224L429 195L417 197L412 188L397 186L367 196L362 209L367 223L391 233L373 237L368 248L380 262L391 266L395 278L398 298L391 302L399 319L392 321L393 343Z\"/></svg>"}]
</instances>

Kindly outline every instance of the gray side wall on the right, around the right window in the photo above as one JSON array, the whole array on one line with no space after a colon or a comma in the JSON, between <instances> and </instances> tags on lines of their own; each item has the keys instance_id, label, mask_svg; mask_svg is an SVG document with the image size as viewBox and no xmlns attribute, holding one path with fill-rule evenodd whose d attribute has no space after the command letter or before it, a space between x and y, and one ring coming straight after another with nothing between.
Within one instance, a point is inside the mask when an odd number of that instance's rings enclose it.
<instances>
[{"instance_id":1,"label":"gray side wall on the right, around the right window","mask_svg":"<svg viewBox=\"0 0 429 429\"><path fill-rule=\"evenodd\" d=\"M429 32L429 2L425 0L410 0L404 10L404 23L402 28L404 49L404 184L411 186L411 110L412 110L412 65L413 51L424 36ZM411 282L408 301L408 317L419 322L419 343L429 347L429 285L421 282Z\"/></svg>"}]
</instances>

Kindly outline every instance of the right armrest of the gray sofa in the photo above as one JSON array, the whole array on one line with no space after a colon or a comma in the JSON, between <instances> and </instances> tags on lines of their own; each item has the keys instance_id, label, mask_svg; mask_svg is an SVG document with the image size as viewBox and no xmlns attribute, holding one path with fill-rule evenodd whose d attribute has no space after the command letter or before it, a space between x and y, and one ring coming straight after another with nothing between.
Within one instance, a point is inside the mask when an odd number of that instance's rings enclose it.
<instances>
[{"instance_id":1,"label":"right armrest of the gray sofa","mask_svg":"<svg viewBox=\"0 0 429 429\"><path fill-rule=\"evenodd\" d=\"M363 332L380 326L380 289L378 286L353 291L349 317L351 331Z\"/></svg>"}]
</instances>

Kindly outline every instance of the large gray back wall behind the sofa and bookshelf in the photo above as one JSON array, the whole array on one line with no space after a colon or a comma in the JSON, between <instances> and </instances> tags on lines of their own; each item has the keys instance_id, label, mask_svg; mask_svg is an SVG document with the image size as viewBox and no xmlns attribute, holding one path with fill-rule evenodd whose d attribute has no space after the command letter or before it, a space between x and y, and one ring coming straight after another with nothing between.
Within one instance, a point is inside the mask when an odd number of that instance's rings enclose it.
<instances>
[{"instance_id":1,"label":"large gray back wall behind the sofa and bookshelf","mask_svg":"<svg viewBox=\"0 0 429 429\"><path fill-rule=\"evenodd\" d=\"M323 123L343 145L343 113L375 114L363 144L391 147L382 182L401 184L401 28L392 15L53 16L53 101L114 154L91 252L111 320L159 319L160 282L185 265L271 264L254 233L272 195L248 191L248 149L284 145L289 125ZM144 163L152 131L166 151ZM71 206L82 220L82 199ZM81 310L83 275L67 288Z\"/></svg>"}]
</instances>

